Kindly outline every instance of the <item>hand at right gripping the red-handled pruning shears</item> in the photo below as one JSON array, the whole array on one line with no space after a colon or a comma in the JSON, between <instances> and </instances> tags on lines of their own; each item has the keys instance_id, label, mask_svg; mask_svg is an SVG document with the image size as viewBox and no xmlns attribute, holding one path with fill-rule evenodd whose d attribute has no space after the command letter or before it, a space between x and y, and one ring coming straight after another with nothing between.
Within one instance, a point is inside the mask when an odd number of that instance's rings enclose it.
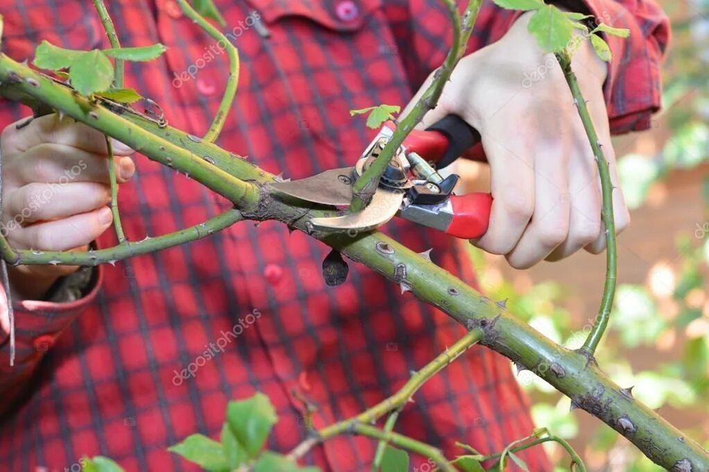
<instances>
[{"instance_id":1,"label":"hand at right gripping the red-handled pruning shears","mask_svg":"<svg viewBox=\"0 0 709 472\"><path fill-rule=\"evenodd\" d=\"M605 248L593 151L561 68L527 32L529 16L521 16L498 42L461 59L422 123L426 127L452 113L481 133L494 200L487 233L471 242L506 255L519 269L581 248L591 253ZM574 53L572 66L618 186L603 98L607 66L588 41ZM620 233L630 222L620 188L613 192L613 205Z\"/></svg>"}]
</instances>

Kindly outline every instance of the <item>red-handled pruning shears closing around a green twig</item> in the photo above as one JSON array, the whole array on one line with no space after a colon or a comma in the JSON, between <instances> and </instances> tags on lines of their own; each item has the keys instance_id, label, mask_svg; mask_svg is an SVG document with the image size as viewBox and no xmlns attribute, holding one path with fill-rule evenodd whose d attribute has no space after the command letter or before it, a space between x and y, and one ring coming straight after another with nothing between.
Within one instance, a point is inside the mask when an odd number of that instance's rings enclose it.
<instances>
[{"instance_id":1,"label":"red-handled pruning shears closing around a green twig","mask_svg":"<svg viewBox=\"0 0 709 472\"><path fill-rule=\"evenodd\" d=\"M396 123L388 121L352 167L330 169L301 180L272 183L276 195L342 207L352 201L352 185L389 142ZM310 220L313 229L356 234L385 224L395 216L457 238L479 238L487 231L492 197L475 192L454 195L456 174L443 178L448 166L480 142L480 134L456 115L448 115L424 131L414 130L395 152L369 205L359 212Z\"/></svg>"}]
</instances>

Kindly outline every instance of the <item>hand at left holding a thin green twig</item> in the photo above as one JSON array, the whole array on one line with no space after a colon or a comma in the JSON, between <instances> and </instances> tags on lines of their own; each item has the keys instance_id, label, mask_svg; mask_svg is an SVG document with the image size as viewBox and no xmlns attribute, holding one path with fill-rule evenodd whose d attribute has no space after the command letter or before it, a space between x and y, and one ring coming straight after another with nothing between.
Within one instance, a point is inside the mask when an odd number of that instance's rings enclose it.
<instances>
[{"instance_id":1,"label":"hand at left holding a thin green twig","mask_svg":"<svg viewBox=\"0 0 709 472\"><path fill-rule=\"evenodd\" d=\"M86 246L113 221L104 134L56 114L7 126L2 154L2 234L16 249L69 251ZM135 173L133 150L111 142L116 179ZM11 268L13 292L41 299L57 278L78 267L22 265Z\"/></svg>"}]
</instances>

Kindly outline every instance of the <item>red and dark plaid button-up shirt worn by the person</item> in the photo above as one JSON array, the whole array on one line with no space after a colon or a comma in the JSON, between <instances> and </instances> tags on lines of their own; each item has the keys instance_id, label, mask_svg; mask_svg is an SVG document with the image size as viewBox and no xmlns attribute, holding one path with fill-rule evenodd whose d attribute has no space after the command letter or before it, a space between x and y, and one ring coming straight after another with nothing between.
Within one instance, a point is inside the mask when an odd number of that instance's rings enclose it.
<instances>
[{"instance_id":1,"label":"red and dark plaid button-up shirt worn by the person","mask_svg":"<svg viewBox=\"0 0 709 472\"><path fill-rule=\"evenodd\" d=\"M216 42L172 0L108 3L123 45L169 47L158 60L127 64L127 86L160 103L172 125L205 132L228 73ZM666 18L651 0L586 3L607 23L632 30L630 40L610 39L615 62L606 96L615 132L643 129L659 107ZM435 0L216 4L242 61L219 144L289 178L350 165L374 131L348 110L406 104L450 44ZM91 2L0 6L3 49L14 59L32 59L42 39L107 46ZM501 38L517 16L486 2L470 50ZM3 125L27 113L0 103ZM137 165L120 197L134 240L229 207L184 175L144 158ZM366 267L350 263L345 284L325 286L327 247L283 224L254 226L101 267L94 289L77 301L19 302L16 367L8 367L0 333L0 468L77 470L82 456L103 454L130 471L192 470L166 447L194 432L218 437L226 402L255 391L271 398L280 417L269 446L288 451L307 434L304 405L316 408L314 427L348 418L391 395L464 333ZM474 282L462 246L445 235L398 220L384 231L418 251L433 248L436 263ZM99 240L115 243L113 234ZM450 456L462 452L456 440L501 451L532 428L510 362L484 347L425 384L396 426ZM369 439L340 437L306 461L359 472L373 452ZM540 449L521 456L532 471L551 470Z\"/></svg>"}]
</instances>

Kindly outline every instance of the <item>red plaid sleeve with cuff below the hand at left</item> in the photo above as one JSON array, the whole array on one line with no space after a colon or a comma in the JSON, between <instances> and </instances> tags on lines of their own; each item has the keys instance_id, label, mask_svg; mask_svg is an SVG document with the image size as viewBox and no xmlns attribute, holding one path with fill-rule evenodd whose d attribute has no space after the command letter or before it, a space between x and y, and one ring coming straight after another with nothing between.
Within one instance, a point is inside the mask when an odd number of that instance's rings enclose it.
<instances>
[{"instance_id":1,"label":"red plaid sleeve with cuff below the hand at left","mask_svg":"<svg viewBox=\"0 0 709 472\"><path fill-rule=\"evenodd\" d=\"M38 364L77 316L96 299L103 270L95 268L89 292L74 301L13 301L15 364L10 365L10 333L7 297L0 286L0 413L26 388Z\"/></svg>"}]
</instances>

